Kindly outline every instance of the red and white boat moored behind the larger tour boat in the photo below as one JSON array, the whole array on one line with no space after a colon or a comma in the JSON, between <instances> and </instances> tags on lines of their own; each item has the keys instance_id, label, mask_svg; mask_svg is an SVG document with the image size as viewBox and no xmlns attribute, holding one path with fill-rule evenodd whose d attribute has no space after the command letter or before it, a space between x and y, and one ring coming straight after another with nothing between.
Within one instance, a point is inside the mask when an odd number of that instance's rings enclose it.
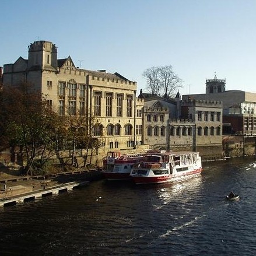
<instances>
[{"instance_id":1,"label":"red and white boat moored behind the larger tour boat","mask_svg":"<svg viewBox=\"0 0 256 256\"><path fill-rule=\"evenodd\" d=\"M141 162L142 157L142 154L120 156L120 152L110 152L110 156L103 159L101 173L107 180L131 180L132 167Z\"/></svg>"}]
</instances>

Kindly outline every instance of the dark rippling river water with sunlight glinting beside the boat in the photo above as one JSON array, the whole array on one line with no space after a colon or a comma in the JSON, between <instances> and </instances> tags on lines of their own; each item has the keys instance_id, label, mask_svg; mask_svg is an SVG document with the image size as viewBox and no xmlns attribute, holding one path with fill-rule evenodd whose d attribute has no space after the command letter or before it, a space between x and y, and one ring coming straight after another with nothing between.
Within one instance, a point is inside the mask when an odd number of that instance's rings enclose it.
<instances>
[{"instance_id":1,"label":"dark rippling river water with sunlight glinting beside the boat","mask_svg":"<svg viewBox=\"0 0 256 256\"><path fill-rule=\"evenodd\" d=\"M0 208L0 255L255 255L256 160L203 167L181 183L100 180Z\"/></svg>"}]
</instances>

